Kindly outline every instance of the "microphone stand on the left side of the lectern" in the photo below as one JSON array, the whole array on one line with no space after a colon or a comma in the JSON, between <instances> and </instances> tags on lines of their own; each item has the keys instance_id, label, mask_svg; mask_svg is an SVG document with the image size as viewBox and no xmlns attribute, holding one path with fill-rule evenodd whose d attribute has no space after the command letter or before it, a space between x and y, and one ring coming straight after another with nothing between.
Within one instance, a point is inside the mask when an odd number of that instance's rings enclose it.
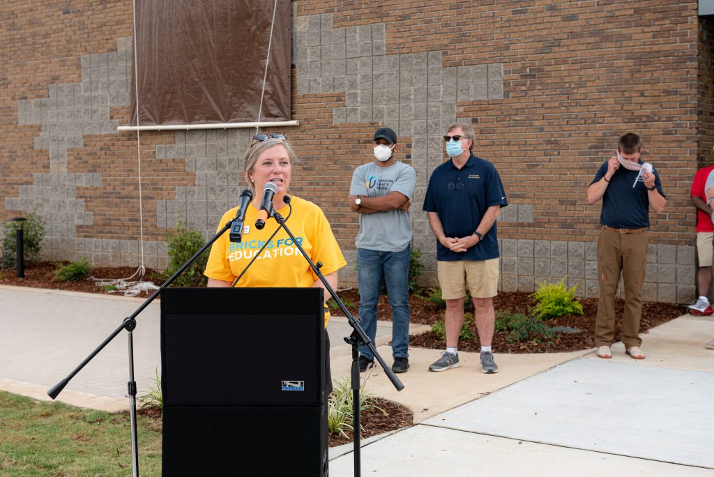
<instances>
[{"instance_id":1,"label":"microphone stand on the left side of the lectern","mask_svg":"<svg viewBox=\"0 0 714 477\"><path fill-rule=\"evenodd\" d=\"M238 214L241 214L240 209L238 210ZM161 293L161 290L164 288L168 287L171 285L171 283L176 280L176 277L181 275L186 268L188 268L193 261L196 261L196 258L201 255L208 247L213 245L213 242L218 240L218 238L223 235L228 229L231 228L231 224L233 224L234 221L238 219L238 215L231 219L230 221L226 222L226 225L223 226L223 229L219 230L216 235L213 236L211 240L206 242L200 250L198 250L196 253L193 254L191 258L188 258L188 261L186 263L183 263L181 265L181 268L178 268L176 270L176 273L171 275L168 280L166 280L154 293L149 296L149 298L146 298L146 301L144 303L141 303L141 306L139 308L136 308L136 311L134 313L131 313L131 316L124 318L124 321L121 323L121 325L116 328L114 331L111 332L109 337L107 337L94 351L89 353L89 356L87 356L84 361L82 361L79 366L74 368L74 371L69 373L69 375L59 381L53 388L51 388L49 391L47 391L47 395L51 397L52 399L55 399L57 396L59 396L59 393L62 392L65 386L69 383L71 378L74 378L74 376L81 371L84 366L86 366L89 361L91 361L94 356L99 354L99 351L104 349L104 346L108 345L111 340L116 338L116 336L121 333L122 330L127 331L127 338L129 338L129 382L127 383L127 388L129 389L129 418L131 421L131 468L132 468L132 476L133 477L139 477L139 443L137 441L137 432L136 432L136 381L134 381L134 339L132 337L132 332L136 328L136 316L139 315L144 309L149 306L149 303L154 301L154 298L156 296L159 296L159 293Z\"/></svg>"}]
</instances>

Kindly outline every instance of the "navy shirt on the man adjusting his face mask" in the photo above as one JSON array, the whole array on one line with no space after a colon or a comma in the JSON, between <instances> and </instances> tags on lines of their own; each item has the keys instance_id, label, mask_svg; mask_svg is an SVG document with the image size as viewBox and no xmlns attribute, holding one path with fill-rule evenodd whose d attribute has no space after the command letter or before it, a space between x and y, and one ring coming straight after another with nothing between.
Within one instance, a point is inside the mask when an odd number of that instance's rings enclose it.
<instances>
[{"instance_id":1,"label":"navy shirt on the man adjusting his face mask","mask_svg":"<svg viewBox=\"0 0 714 477\"><path fill-rule=\"evenodd\" d=\"M640 159L639 164L643 164ZM608 163L604 162L590 186L603 179L608 171ZM660 175L657 169L652 168L655 174L655 186L660 196L666 197L660 184ZM615 174L610 177L610 184L603 195L603 209L600 211L600 224L613 229L642 229L650 226L650 199L647 187L640 179L635 184L639 171L630 171L620 166ZM633 187L634 184L634 187Z\"/></svg>"}]
</instances>

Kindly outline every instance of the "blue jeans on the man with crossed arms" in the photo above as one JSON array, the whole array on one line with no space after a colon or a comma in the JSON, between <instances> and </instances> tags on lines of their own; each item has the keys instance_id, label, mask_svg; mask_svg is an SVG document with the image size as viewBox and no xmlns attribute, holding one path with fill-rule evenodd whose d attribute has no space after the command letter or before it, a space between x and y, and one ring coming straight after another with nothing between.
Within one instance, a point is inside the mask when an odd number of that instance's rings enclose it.
<instances>
[{"instance_id":1,"label":"blue jeans on the man with crossed arms","mask_svg":"<svg viewBox=\"0 0 714 477\"><path fill-rule=\"evenodd\" d=\"M382 279L387 284L392 307L392 356L408 358L409 353L409 259L411 247L401 252L381 252L357 248L357 282L359 317L367 336L374 341L377 333L377 302ZM373 358L372 352L360 345L361 356Z\"/></svg>"}]
</instances>

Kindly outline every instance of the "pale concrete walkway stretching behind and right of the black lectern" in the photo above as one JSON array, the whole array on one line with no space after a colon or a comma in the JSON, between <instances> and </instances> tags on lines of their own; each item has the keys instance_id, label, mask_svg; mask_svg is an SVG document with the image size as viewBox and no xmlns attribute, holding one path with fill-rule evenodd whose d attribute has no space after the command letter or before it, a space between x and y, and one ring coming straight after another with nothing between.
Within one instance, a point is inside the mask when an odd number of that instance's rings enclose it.
<instances>
[{"instance_id":1,"label":"pale concrete walkway stretching behind and right of the black lectern","mask_svg":"<svg viewBox=\"0 0 714 477\"><path fill-rule=\"evenodd\" d=\"M144 300L0 286L0 390L49 399L64 378ZM159 370L159 303L134 331L140 393ZM415 329L418 326L415 326ZM331 318L333 378L348 376L351 328ZM423 328L421 328L423 329ZM367 390L403 403L415 426L363 446L369 476L714 476L714 319L683 316L643 335L644 361L603 360L592 351L499 354L501 372L481 373L478 354L461 368L430 373L439 351L410 350L394 390L381 369ZM391 323L378 349L391 364ZM381 346L379 346L381 345ZM61 393L60 400L125 409L126 337L118 336ZM331 475L353 475L351 445L331 449Z\"/></svg>"}]
</instances>

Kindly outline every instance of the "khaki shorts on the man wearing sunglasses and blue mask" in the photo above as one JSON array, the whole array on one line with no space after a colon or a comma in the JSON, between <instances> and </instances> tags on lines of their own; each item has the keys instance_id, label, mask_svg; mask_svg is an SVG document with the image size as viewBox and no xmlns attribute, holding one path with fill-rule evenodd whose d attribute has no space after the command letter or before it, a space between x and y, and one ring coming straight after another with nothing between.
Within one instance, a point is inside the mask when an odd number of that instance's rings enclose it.
<instances>
[{"instance_id":1,"label":"khaki shorts on the man wearing sunglasses and blue mask","mask_svg":"<svg viewBox=\"0 0 714 477\"><path fill-rule=\"evenodd\" d=\"M498 294L498 263L490 260L437 261L441 298L455 300L466 296L466 286L473 298L493 298Z\"/></svg>"}]
</instances>

